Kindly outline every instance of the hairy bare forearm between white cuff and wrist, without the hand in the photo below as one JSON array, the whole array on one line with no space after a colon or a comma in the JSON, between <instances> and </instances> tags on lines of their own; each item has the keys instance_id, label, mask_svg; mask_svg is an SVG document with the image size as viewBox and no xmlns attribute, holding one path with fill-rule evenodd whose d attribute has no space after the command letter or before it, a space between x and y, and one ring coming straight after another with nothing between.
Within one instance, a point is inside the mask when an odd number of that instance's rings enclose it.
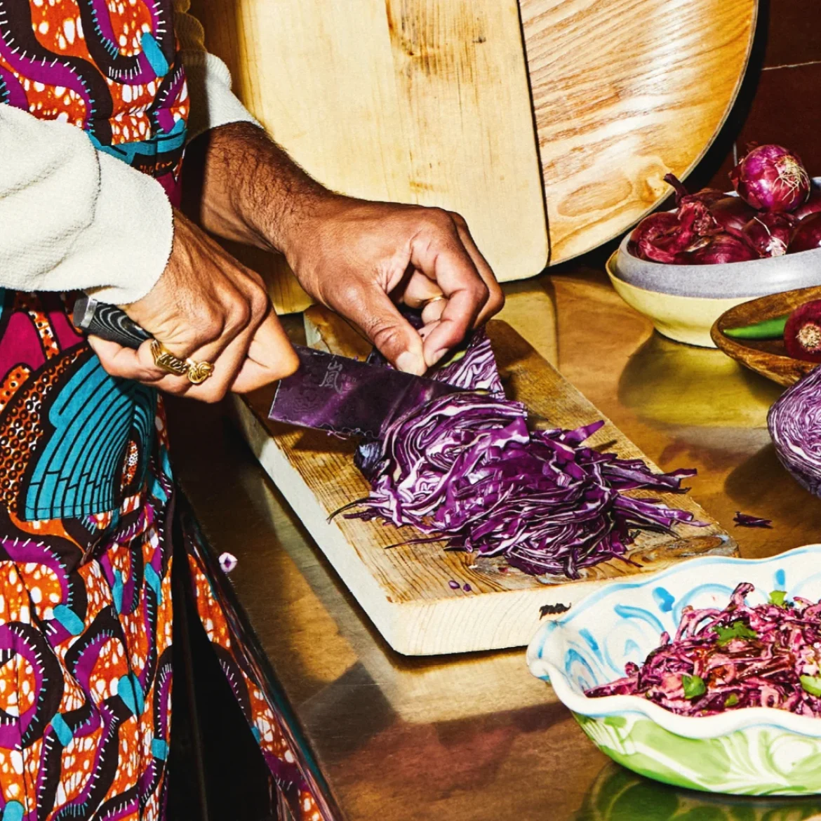
<instances>
[{"instance_id":1,"label":"hairy bare forearm between white cuff and wrist, without the hand","mask_svg":"<svg viewBox=\"0 0 821 821\"><path fill-rule=\"evenodd\" d=\"M248 122L200 136L186 159L188 212L227 240L288 255L333 194Z\"/></svg>"}]
</instances>

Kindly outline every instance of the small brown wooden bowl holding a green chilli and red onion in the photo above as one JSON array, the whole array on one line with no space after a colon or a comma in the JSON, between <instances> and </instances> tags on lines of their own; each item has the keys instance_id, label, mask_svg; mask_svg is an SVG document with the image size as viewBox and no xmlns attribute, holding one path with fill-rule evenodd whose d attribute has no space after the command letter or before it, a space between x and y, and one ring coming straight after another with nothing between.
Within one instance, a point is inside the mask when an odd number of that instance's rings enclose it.
<instances>
[{"instance_id":1,"label":"small brown wooden bowl holding a green chilli and red onion","mask_svg":"<svg viewBox=\"0 0 821 821\"><path fill-rule=\"evenodd\" d=\"M779 385L791 385L809 374L818 363L802 362L787 356L781 339L732 339L722 332L725 328L741 328L742 325L789 314L799 305L818 299L821 299L821 286L759 296L756 300L742 302L741 305L726 310L713 324L710 336L716 347L741 362L741 365Z\"/></svg>"}]
</instances>

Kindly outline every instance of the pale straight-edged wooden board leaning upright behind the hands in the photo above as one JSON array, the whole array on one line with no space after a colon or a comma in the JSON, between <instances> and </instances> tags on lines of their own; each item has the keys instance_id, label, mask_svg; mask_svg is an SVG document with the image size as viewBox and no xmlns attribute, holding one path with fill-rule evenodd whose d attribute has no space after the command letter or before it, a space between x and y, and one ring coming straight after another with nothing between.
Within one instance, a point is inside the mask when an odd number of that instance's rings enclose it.
<instances>
[{"instance_id":1,"label":"pale straight-edged wooden board leaning upright behind the hands","mask_svg":"<svg viewBox=\"0 0 821 821\"><path fill-rule=\"evenodd\" d=\"M458 211L502 280L547 264L516 0L200 0L195 12L237 94L314 177Z\"/></svg>"}]
</instances>

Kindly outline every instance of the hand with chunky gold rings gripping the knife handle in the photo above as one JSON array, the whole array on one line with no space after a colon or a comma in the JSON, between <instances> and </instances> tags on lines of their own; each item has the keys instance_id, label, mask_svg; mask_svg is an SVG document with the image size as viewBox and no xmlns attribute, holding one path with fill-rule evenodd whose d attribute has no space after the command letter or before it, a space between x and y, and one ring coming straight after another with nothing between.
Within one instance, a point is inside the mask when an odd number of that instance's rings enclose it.
<instances>
[{"instance_id":1,"label":"hand with chunky gold rings gripping the knife handle","mask_svg":"<svg viewBox=\"0 0 821 821\"><path fill-rule=\"evenodd\" d=\"M247 392L288 376L299 364L262 279L177 211L165 271L146 296L121 307L172 354L211 362L214 369L194 385L154 365L150 342L133 351L89 336L112 376L213 402L228 391Z\"/></svg>"}]
</instances>

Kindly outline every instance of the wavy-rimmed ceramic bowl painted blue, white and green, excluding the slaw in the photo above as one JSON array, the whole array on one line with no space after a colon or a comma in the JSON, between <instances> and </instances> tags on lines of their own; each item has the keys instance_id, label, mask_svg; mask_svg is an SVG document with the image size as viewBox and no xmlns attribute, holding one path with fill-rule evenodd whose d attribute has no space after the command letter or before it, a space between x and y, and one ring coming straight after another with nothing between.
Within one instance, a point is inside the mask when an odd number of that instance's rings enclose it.
<instances>
[{"instance_id":1,"label":"wavy-rimmed ceramic bowl painted blue, white and green, excluding the slaw","mask_svg":"<svg viewBox=\"0 0 821 821\"><path fill-rule=\"evenodd\" d=\"M681 610L727 605L742 581L751 604L782 589L821 599L821 544L749 560L690 559L641 581L613 582L545 622L527 651L530 672L549 681L595 745L636 773L694 790L737 795L821 794L821 719L773 708L693 718L635 695L589 699L585 690L644 662Z\"/></svg>"}]
</instances>

